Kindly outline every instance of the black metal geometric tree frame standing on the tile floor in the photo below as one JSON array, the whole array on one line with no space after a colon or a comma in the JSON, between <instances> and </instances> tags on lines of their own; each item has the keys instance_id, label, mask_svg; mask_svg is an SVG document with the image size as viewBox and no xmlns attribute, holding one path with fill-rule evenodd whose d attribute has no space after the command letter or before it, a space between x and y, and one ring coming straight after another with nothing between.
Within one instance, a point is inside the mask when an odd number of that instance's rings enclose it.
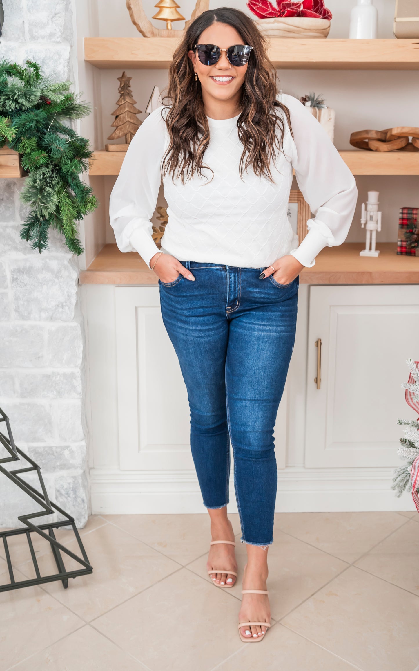
<instances>
[{"instance_id":1,"label":"black metal geometric tree frame standing on the tile floor","mask_svg":"<svg viewBox=\"0 0 419 671\"><path fill-rule=\"evenodd\" d=\"M64 588L68 587L68 578L76 578L77 576L84 576L88 573L93 572L91 564L88 563L88 558L82 541L80 540L80 535L74 524L74 518L71 515L68 515L64 510L62 510L58 505L52 503L48 497L44 480L42 479L41 469L38 464L36 464L32 459L30 459L26 454L24 454L19 448L15 446L13 440L13 435L11 433L11 428L9 424L9 418L3 413L3 410L0 408L0 422L5 423L5 428L7 430L7 435L0 431L0 443L9 453L9 456L0 459L0 472L3 473L9 480L11 480L19 489L23 490L31 499L36 501L43 511L37 511L36 513L29 513L28 515L20 515L17 517L19 521L23 522L26 525L27 529L9 529L8 531L0 531L0 542L3 540L3 545L5 549L5 557L7 561L7 568L9 570L10 582L5 584L0 584L0 592L5 592L6 590L17 589L19 587L28 587L29 585L39 585L44 582L53 582L54 580L61 580ZM18 468L17 470L6 470L3 464L7 462L19 461L20 458L25 459L30 466L27 468ZM40 481L40 488L42 492L38 492L31 484L28 484L20 477L21 473L28 473L31 471L36 471ZM54 515L54 512L61 513L63 519L59 522L48 522L46 524L34 524L31 520L36 517L45 517L46 515ZM80 553L82 557L77 556L68 548L65 548L62 544L58 542L55 537L54 529L60 529L60 527L72 527L74 537L78 542L78 547L80 548ZM34 545L32 544L32 533L38 533L42 538L44 538L50 544L51 552L54 556L54 560L57 565L58 572L50 576L42 576L38 567L38 562L36 560L36 555L34 551ZM32 557L32 563L34 564L34 570L36 578L28 580L15 580L13 575L13 567L11 564L9 546L7 545L7 539L11 536L16 535L25 535L27 539L27 545L29 546L29 552ZM71 557L75 562L78 562L82 568L67 571L64 566L64 561L62 559L61 553L64 552L69 557Z\"/></svg>"}]
</instances>

